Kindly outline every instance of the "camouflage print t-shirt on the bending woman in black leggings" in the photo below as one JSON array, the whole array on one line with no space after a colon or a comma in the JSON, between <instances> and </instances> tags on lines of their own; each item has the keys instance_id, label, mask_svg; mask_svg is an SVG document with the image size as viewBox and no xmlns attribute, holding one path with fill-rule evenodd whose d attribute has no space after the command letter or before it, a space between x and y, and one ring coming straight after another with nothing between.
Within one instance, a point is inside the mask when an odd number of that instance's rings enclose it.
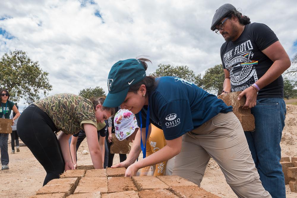
<instances>
[{"instance_id":1,"label":"camouflage print t-shirt on the bending woman in black leggings","mask_svg":"<svg viewBox=\"0 0 297 198\"><path fill-rule=\"evenodd\" d=\"M37 100L33 104L50 116L58 130L67 134L78 133L84 123L93 124L97 128L93 103L79 95L61 93Z\"/></svg>"}]
</instances>

